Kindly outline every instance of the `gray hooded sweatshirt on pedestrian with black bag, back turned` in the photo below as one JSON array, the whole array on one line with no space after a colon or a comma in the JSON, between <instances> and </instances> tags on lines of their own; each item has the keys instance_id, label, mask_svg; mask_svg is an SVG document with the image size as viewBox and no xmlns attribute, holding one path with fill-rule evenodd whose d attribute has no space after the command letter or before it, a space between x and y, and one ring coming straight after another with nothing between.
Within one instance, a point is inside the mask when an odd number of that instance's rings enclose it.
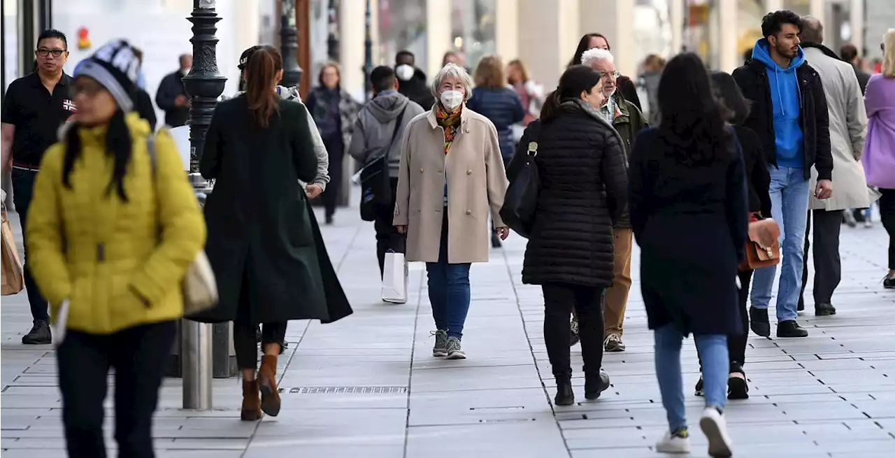
<instances>
[{"instance_id":1,"label":"gray hooded sweatshirt on pedestrian with black bag, back turned","mask_svg":"<svg viewBox=\"0 0 895 458\"><path fill-rule=\"evenodd\" d=\"M362 164L366 164L372 158L368 156L377 152L379 148L385 147L391 141L397 117L402 110L404 110L404 117L401 118L401 125L398 128L395 141L391 148L388 148L388 176L396 178L398 165L401 162L402 139L407 124L414 116L425 113L422 106L417 105L405 95L397 91L388 91L386 94L379 94L370 103L363 106L354 123L354 135L351 137L348 154Z\"/></svg>"}]
</instances>

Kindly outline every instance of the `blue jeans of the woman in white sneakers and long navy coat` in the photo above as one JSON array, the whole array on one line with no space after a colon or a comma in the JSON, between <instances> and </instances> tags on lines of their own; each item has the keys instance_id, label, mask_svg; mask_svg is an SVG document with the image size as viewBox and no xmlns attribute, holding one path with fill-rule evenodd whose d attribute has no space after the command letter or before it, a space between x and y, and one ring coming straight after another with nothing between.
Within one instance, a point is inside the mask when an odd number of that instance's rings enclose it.
<instances>
[{"instance_id":1,"label":"blue jeans of the woman in white sneakers and long navy coat","mask_svg":"<svg viewBox=\"0 0 895 458\"><path fill-rule=\"evenodd\" d=\"M680 345L684 335L674 323L655 330L656 377L662 394L662 406L669 420L669 431L686 427L684 382L680 373ZM696 350L703 361L703 395L706 407L724 408L727 401L729 357L727 335L694 335Z\"/></svg>"}]
</instances>

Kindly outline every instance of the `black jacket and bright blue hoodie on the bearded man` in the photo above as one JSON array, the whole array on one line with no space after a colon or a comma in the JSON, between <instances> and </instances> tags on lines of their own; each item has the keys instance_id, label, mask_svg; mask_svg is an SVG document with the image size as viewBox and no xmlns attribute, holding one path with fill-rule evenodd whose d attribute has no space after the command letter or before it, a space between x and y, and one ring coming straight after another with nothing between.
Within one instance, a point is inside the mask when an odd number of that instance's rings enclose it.
<instances>
[{"instance_id":1,"label":"black jacket and bright blue hoodie on the bearded man","mask_svg":"<svg viewBox=\"0 0 895 458\"><path fill-rule=\"evenodd\" d=\"M798 54L787 68L771 59L767 39L755 42L752 59L733 72L743 96L752 101L745 127L762 142L768 163L803 168L805 179L811 167L822 180L831 180L829 114L818 73Z\"/></svg>"}]
</instances>

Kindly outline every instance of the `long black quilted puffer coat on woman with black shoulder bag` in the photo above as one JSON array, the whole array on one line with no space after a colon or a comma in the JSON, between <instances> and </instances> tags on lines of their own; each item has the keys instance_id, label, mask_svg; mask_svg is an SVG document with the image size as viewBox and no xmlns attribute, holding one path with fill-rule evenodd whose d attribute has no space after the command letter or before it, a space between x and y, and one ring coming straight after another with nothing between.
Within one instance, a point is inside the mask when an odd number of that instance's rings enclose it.
<instances>
[{"instance_id":1,"label":"long black quilted puffer coat on woman with black shoulder bag","mask_svg":"<svg viewBox=\"0 0 895 458\"><path fill-rule=\"evenodd\" d=\"M618 132L580 100L540 126L541 191L525 250L525 284L612 284L612 226L627 199Z\"/></svg>"}]
</instances>

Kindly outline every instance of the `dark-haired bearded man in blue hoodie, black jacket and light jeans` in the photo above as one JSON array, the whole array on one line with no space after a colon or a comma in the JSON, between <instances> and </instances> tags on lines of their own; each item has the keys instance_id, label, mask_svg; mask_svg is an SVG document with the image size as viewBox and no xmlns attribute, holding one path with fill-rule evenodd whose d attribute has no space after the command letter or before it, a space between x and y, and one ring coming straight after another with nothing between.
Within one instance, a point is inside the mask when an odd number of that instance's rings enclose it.
<instances>
[{"instance_id":1,"label":"dark-haired bearded man in blue hoodie, black jacket and light jeans","mask_svg":"<svg viewBox=\"0 0 895 458\"><path fill-rule=\"evenodd\" d=\"M826 96L820 76L805 63L798 34L802 21L796 13L768 13L762 20L764 38L755 42L752 59L733 72L743 95L752 101L744 125L758 134L771 172L771 215L780 225L780 288L777 295L777 336L805 337L796 321L802 267L805 262L805 225L808 195L830 199L833 162ZM811 167L817 187L810 189ZM771 335L768 306L777 267L754 273L751 328ZM748 285L744 284L744 288Z\"/></svg>"}]
</instances>

